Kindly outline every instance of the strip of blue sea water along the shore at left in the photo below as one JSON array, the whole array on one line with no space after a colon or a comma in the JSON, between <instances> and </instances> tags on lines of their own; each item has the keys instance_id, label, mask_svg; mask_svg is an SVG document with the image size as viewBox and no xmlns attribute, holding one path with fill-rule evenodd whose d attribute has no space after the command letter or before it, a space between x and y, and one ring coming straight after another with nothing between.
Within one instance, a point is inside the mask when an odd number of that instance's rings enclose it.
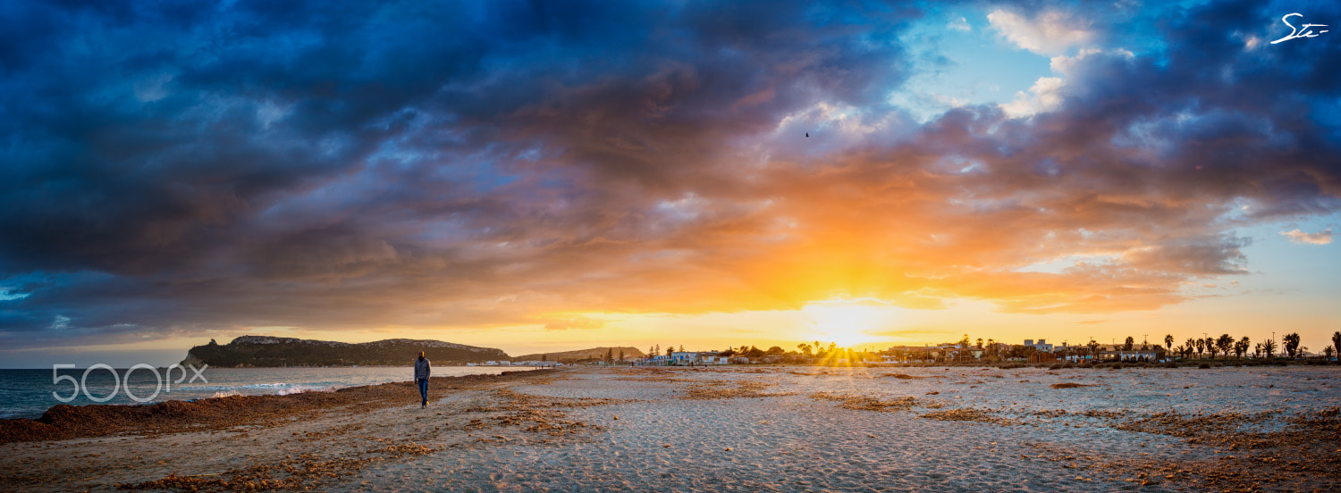
<instances>
[{"instance_id":1,"label":"strip of blue sea water along the shore at left","mask_svg":"<svg viewBox=\"0 0 1341 493\"><path fill-rule=\"evenodd\" d=\"M294 394L306 391L327 391L342 387L355 387L388 382L409 382L414 378L414 368L405 367L353 367L353 368L205 368L198 376L190 368L182 371L173 368L172 376L165 375L164 368L154 371L135 368L130 372L129 380L126 368L117 368L115 376L107 368L94 368L84 376L86 368L52 370L0 370L0 418L38 418L48 407L68 405L99 403L90 399L110 399L101 403L107 405L134 405L137 403L126 394L142 399L149 398L158 390L158 395L149 402L164 401L192 401L224 395L259 395L259 394ZM504 371L527 370L526 367L433 367L433 376L459 375L498 375ZM67 378L68 376L68 378ZM194 382L192 379L194 378ZM71 380L72 379L72 380ZM165 380L181 380L181 383L160 383ZM82 383L78 383L80 382ZM118 384L119 380L119 384ZM70 402L67 398L75 393L78 395Z\"/></svg>"}]
</instances>

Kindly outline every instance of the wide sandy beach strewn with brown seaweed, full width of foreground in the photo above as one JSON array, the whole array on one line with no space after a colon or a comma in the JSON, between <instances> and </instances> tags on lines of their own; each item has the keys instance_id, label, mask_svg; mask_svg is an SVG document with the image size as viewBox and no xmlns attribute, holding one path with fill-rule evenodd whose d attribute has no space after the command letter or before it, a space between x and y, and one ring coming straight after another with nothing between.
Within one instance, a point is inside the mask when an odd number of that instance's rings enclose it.
<instances>
[{"instance_id":1,"label":"wide sandy beach strewn with brown seaweed, full width of foreground","mask_svg":"<svg viewBox=\"0 0 1341 493\"><path fill-rule=\"evenodd\" d=\"M1338 375L620 367L434 379L422 410L409 383L87 406L7 422L0 490L1328 492Z\"/></svg>"}]
</instances>

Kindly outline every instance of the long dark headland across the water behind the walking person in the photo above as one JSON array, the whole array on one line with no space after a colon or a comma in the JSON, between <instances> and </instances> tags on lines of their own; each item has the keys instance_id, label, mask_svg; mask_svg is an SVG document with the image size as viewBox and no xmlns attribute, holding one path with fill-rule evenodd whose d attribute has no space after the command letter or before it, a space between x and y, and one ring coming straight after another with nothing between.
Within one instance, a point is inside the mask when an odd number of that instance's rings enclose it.
<instances>
[{"instance_id":1,"label":"long dark headland across the water behind the walking person","mask_svg":"<svg viewBox=\"0 0 1341 493\"><path fill-rule=\"evenodd\" d=\"M219 344L211 339L209 344L192 347L186 351L186 359L181 364L209 364L213 367L409 364L418 356L420 351L424 351L424 355L434 364L510 359L503 350L441 340L386 339L370 343L342 343L244 335L228 344Z\"/></svg>"}]
</instances>

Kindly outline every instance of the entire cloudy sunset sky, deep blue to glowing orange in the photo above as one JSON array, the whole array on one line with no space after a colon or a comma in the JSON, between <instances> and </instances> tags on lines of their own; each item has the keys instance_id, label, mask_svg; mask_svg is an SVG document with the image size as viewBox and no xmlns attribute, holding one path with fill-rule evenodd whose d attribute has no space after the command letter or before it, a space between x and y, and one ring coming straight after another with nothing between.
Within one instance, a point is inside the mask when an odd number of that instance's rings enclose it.
<instances>
[{"instance_id":1,"label":"entire cloudy sunset sky, deep blue to glowing orange","mask_svg":"<svg viewBox=\"0 0 1341 493\"><path fill-rule=\"evenodd\" d=\"M1306 23L1341 4L4 3L0 367L241 335L1321 351L1341 32L1279 40Z\"/></svg>"}]
</instances>

